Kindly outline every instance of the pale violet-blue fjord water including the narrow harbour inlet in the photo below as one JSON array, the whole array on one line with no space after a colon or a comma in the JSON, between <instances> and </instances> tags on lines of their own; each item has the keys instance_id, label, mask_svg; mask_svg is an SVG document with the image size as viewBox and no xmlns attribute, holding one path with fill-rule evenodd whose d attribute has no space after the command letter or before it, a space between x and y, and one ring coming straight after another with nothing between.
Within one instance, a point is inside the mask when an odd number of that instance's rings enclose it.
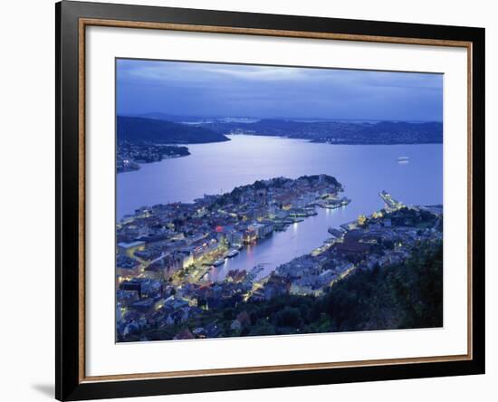
<instances>
[{"instance_id":1,"label":"pale violet-blue fjord water including the narrow harbour inlet","mask_svg":"<svg viewBox=\"0 0 498 402\"><path fill-rule=\"evenodd\" d=\"M230 269L251 269L264 263L264 273L280 263L310 253L330 237L327 228L369 215L383 206L378 196L387 190L408 205L443 203L443 146L330 145L301 139L232 136L231 141L189 145L192 155L145 164L117 177L117 217L139 206L174 201L192 202L204 194L270 177L297 178L328 174L345 187L352 199L337 210L317 209L319 215L275 233L215 269L223 277ZM398 157L408 157L399 163ZM263 273L262 273L263 274Z\"/></svg>"}]
</instances>

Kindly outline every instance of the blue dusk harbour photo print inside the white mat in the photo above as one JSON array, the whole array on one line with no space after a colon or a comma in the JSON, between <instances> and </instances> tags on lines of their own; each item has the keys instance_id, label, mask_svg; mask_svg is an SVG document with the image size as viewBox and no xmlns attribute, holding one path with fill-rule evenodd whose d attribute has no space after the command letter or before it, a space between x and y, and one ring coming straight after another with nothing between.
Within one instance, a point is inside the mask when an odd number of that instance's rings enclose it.
<instances>
[{"instance_id":1,"label":"blue dusk harbour photo print inside the white mat","mask_svg":"<svg viewBox=\"0 0 498 402\"><path fill-rule=\"evenodd\" d=\"M443 85L116 59L116 341L443 327Z\"/></svg>"}]
</instances>

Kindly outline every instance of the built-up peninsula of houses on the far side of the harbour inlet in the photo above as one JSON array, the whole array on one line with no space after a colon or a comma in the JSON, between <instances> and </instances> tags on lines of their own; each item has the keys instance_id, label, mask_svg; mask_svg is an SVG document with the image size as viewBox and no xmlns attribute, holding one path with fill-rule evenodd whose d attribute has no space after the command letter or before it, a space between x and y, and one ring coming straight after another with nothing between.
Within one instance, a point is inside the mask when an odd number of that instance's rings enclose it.
<instances>
[{"instance_id":1,"label":"built-up peninsula of houses on the far side of the harbour inlet","mask_svg":"<svg viewBox=\"0 0 498 402\"><path fill-rule=\"evenodd\" d=\"M145 275L168 281L180 270L282 230L313 201L339 191L340 184L326 175L277 177L192 204L140 208L117 225L117 279Z\"/></svg>"}]
</instances>

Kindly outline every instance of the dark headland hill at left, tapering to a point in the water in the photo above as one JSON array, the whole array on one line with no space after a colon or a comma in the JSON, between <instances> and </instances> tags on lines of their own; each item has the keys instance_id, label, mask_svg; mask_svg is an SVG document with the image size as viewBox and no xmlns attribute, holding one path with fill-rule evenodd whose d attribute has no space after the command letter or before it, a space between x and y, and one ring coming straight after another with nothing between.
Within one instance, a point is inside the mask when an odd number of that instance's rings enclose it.
<instances>
[{"instance_id":1,"label":"dark headland hill at left, tapering to a point in the water","mask_svg":"<svg viewBox=\"0 0 498 402\"><path fill-rule=\"evenodd\" d=\"M119 141L156 144L202 144L230 140L224 134L204 127L129 116L118 116L117 134Z\"/></svg>"}]
</instances>

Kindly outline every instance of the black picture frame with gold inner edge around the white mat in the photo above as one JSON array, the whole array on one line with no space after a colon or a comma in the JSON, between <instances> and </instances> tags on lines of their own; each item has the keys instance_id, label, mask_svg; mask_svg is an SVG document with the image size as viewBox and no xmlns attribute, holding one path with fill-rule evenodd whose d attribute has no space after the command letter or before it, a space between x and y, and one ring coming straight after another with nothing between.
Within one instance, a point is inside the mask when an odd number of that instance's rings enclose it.
<instances>
[{"instance_id":1,"label":"black picture frame with gold inner edge around the white mat","mask_svg":"<svg viewBox=\"0 0 498 402\"><path fill-rule=\"evenodd\" d=\"M472 359L180 378L86 381L81 378L81 129L79 21L209 25L302 33L420 38L472 43ZM62 1L55 5L56 48L56 348L55 397L82 400L251 388L430 378L484 373L484 29L322 17L110 5ZM84 212L84 211L83 211Z\"/></svg>"}]
</instances>

